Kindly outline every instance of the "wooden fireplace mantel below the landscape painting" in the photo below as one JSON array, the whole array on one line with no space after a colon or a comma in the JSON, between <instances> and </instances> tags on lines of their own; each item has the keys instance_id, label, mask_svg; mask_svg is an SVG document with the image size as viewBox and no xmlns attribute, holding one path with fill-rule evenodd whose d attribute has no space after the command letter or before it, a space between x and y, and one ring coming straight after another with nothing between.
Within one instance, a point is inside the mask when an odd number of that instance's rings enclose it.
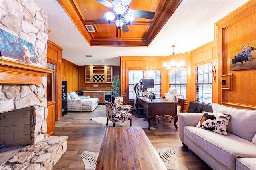
<instances>
[{"instance_id":1,"label":"wooden fireplace mantel below the landscape painting","mask_svg":"<svg viewBox=\"0 0 256 170\"><path fill-rule=\"evenodd\" d=\"M42 77L54 70L0 58L1 84L42 84Z\"/></svg>"}]
</instances>

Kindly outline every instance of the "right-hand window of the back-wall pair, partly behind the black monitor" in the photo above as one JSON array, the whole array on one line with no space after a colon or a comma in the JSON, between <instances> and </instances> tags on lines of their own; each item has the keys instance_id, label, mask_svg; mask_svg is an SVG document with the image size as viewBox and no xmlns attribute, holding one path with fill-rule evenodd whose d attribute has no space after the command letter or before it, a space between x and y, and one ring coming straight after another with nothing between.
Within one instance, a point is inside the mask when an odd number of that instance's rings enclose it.
<instances>
[{"instance_id":1,"label":"right-hand window of the back-wall pair, partly behind the black monitor","mask_svg":"<svg viewBox=\"0 0 256 170\"><path fill-rule=\"evenodd\" d=\"M154 87L148 88L147 92L153 92L157 97L161 97L161 71L147 71L147 79L154 79Z\"/></svg>"}]
</instances>

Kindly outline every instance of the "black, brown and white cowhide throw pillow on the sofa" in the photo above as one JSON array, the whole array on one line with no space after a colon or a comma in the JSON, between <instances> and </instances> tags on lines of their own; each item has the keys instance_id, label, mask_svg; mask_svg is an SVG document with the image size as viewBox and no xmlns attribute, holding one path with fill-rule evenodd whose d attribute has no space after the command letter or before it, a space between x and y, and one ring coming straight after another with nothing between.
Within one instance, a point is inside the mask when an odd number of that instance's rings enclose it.
<instances>
[{"instance_id":1,"label":"black, brown and white cowhide throw pillow on the sofa","mask_svg":"<svg viewBox=\"0 0 256 170\"><path fill-rule=\"evenodd\" d=\"M196 127L227 135L229 119L229 114L203 112Z\"/></svg>"}]
</instances>

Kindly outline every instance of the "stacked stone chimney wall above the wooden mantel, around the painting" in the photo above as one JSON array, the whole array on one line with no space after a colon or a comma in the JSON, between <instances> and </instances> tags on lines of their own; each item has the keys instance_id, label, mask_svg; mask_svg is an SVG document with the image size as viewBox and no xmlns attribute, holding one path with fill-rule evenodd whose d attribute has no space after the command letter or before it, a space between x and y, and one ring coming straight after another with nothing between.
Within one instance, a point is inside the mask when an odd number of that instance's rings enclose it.
<instances>
[{"instance_id":1,"label":"stacked stone chimney wall above the wooden mantel, around the painting","mask_svg":"<svg viewBox=\"0 0 256 170\"><path fill-rule=\"evenodd\" d=\"M47 14L33 0L1 0L0 28L34 45L37 66L46 68Z\"/></svg>"}]
</instances>

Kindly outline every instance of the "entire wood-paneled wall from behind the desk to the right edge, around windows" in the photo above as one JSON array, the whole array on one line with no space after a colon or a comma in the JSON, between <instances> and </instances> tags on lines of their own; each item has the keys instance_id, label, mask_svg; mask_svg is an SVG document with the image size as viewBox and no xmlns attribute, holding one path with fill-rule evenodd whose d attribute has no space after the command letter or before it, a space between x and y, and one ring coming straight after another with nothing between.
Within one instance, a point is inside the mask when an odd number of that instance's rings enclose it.
<instances>
[{"instance_id":1,"label":"entire wood-paneled wall from behind the desk to the right edge, around windows","mask_svg":"<svg viewBox=\"0 0 256 170\"><path fill-rule=\"evenodd\" d=\"M246 4L216 22L214 41L209 42L189 53L177 54L176 57L186 61L187 101L184 109L188 109L189 101L195 101L194 68L211 63L216 65L217 79L212 81L212 102L237 108L256 109L256 69L230 71L228 50L244 43L256 41L256 1ZM180 58L179 58L180 57ZM121 56L121 95L128 101L129 70L162 70L162 97L168 91L168 70L162 67L167 57ZM248 61L250 62L250 61ZM222 75L232 74L232 90L222 89ZM213 77L212 77L213 78ZM130 101L129 101L130 102ZM132 104L131 102L129 104Z\"/></svg>"}]
</instances>

